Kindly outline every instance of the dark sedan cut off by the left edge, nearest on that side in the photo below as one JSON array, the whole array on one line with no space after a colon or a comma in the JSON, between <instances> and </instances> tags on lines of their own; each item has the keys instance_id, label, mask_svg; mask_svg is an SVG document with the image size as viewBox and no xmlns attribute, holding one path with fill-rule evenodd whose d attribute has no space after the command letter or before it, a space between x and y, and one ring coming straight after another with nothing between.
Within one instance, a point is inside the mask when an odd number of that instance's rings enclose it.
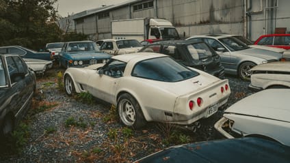
<instances>
[{"instance_id":1,"label":"dark sedan cut off by the left edge, nearest on that side","mask_svg":"<svg viewBox=\"0 0 290 163\"><path fill-rule=\"evenodd\" d=\"M23 118L36 89L36 76L18 55L0 55L0 136Z\"/></svg>"}]
</instances>

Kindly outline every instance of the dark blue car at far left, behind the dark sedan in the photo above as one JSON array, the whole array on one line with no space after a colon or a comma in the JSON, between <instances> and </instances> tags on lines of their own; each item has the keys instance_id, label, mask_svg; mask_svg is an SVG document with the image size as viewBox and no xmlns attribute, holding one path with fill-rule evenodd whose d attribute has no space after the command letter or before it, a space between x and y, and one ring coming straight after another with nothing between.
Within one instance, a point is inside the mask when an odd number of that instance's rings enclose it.
<instances>
[{"instance_id":1,"label":"dark blue car at far left, behind the dark sedan","mask_svg":"<svg viewBox=\"0 0 290 163\"><path fill-rule=\"evenodd\" d=\"M27 59L52 60L51 53L49 52L36 52L23 46L1 46L0 54L17 54Z\"/></svg>"}]
</instances>

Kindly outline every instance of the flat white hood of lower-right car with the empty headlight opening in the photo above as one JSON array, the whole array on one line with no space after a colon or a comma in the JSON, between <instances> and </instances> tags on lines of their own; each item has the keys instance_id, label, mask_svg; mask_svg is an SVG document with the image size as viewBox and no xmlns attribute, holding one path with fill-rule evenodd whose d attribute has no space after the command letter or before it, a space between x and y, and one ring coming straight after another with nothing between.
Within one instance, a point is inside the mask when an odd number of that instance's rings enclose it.
<instances>
[{"instance_id":1,"label":"flat white hood of lower-right car with the empty headlight opening","mask_svg":"<svg viewBox=\"0 0 290 163\"><path fill-rule=\"evenodd\" d=\"M266 89L254 93L233 104L224 111L228 113L263 117L290 122L290 89Z\"/></svg>"}]
</instances>

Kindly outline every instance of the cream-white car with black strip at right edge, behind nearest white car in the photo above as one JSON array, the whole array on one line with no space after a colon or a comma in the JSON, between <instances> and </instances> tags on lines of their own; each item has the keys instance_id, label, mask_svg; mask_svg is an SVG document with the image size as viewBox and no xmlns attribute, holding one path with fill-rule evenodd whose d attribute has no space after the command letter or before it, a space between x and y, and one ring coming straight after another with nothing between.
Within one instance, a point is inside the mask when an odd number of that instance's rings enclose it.
<instances>
[{"instance_id":1,"label":"cream-white car with black strip at right edge, behind nearest white car","mask_svg":"<svg viewBox=\"0 0 290 163\"><path fill-rule=\"evenodd\" d=\"M290 62L273 62L256 65L251 69L254 72L251 76L249 87L256 89L267 89L271 86L285 86L290 88ZM255 73L258 72L259 73Z\"/></svg>"}]
</instances>

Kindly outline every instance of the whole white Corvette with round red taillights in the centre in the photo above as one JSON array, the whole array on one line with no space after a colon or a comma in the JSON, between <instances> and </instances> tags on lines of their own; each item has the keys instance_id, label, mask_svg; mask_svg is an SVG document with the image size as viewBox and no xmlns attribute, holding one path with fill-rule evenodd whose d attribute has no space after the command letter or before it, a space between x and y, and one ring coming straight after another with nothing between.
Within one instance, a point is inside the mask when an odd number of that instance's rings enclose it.
<instances>
[{"instance_id":1,"label":"whole white Corvette with round red taillights in the centre","mask_svg":"<svg viewBox=\"0 0 290 163\"><path fill-rule=\"evenodd\" d=\"M228 80L187 68L167 55L117 55L104 64L68 68L68 95L88 91L114 104L124 125L140 128L146 121L191 125L218 111L228 101Z\"/></svg>"}]
</instances>

